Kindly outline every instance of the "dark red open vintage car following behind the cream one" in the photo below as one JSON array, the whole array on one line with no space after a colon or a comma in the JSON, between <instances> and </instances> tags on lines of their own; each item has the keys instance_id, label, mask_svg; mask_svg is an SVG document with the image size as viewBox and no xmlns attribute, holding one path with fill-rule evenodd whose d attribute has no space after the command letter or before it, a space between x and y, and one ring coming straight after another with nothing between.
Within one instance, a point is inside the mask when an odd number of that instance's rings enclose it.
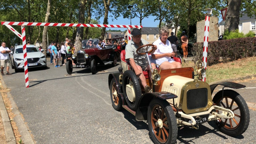
<instances>
[{"instance_id":1,"label":"dark red open vintage car following behind the cream one","mask_svg":"<svg viewBox=\"0 0 256 144\"><path fill-rule=\"evenodd\" d=\"M91 47L86 46L88 40L82 41L82 50L77 51L76 54L72 56L66 56L66 70L68 74L71 74L73 71L72 61L75 63L75 68L90 68L91 73L95 74L96 66L107 65L109 63L112 66L117 65L117 53L115 52L116 47L108 47L99 50L96 45L99 42L98 39L93 39L93 45Z\"/></svg>"}]
</instances>

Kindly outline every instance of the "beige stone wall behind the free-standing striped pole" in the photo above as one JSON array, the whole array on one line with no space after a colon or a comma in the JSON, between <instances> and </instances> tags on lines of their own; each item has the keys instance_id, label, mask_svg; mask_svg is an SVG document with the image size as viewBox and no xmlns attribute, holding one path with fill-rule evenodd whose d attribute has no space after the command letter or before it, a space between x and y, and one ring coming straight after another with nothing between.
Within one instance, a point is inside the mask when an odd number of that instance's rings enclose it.
<instances>
[{"instance_id":1,"label":"beige stone wall behind the free-standing striped pole","mask_svg":"<svg viewBox=\"0 0 256 144\"><path fill-rule=\"evenodd\" d=\"M208 41L217 41L219 36L219 23L218 16L210 17L210 26L209 26L209 40ZM199 21L196 23L196 41L201 43L204 40L205 36L205 20Z\"/></svg>"}]
</instances>

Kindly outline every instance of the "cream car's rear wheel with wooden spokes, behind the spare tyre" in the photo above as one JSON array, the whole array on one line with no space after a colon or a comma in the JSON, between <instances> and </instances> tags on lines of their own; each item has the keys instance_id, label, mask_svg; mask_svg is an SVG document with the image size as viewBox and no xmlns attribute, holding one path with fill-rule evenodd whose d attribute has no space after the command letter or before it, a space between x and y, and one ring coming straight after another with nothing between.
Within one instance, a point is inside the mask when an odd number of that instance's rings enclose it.
<instances>
[{"instance_id":1,"label":"cream car's rear wheel with wooden spokes, behind the spare tyre","mask_svg":"<svg viewBox=\"0 0 256 144\"><path fill-rule=\"evenodd\" d=\"M121 98L119 97L118 87L114 78L112 78L110 83L110 97L111 97L113 108L118 111L121 110L122 109Z\"/></svg>"}]
</instances>

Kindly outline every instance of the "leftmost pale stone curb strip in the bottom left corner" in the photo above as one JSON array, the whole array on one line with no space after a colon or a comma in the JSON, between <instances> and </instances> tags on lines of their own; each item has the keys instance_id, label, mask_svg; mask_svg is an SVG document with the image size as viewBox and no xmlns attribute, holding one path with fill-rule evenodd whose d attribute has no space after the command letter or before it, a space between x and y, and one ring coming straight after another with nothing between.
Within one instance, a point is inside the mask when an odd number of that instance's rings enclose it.
<instances>
[{"instance_id":1,"label":"leftmost pale stone curb strip in the bottom left corner","mask_svg":"<svg viewBox=\"0 0 256 144\"><path fill-rule=\"evenodd\" d=\"M11 121L7 113L6 107L4 105L3 97L1 94L0 94L0 111L1 111L1 117L3 120L6 142L8 144L16 144L16 139L13 133Z\"/></svg>"}]
</instances>

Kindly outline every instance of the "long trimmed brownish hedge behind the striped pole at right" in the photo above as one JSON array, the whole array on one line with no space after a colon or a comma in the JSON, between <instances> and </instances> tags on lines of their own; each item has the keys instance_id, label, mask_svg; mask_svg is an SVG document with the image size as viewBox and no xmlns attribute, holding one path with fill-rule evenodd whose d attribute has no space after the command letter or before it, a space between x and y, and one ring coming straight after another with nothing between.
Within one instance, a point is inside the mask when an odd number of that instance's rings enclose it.
<instances>
[{"instance_id":1,"label":"long trimmed brownish hedge behind the striped pole at right","mask_svg":"<svg viewBox=\"0 0 256 144\"><path fill-rule=\"evenodd\" d=\"M203 43L195 43L192 48L194 62L202 60ZM256 37L236 38L232 40L210 41L208 43L207 65L226 63L256 55Z\"/></svg>"}]
</instances>

